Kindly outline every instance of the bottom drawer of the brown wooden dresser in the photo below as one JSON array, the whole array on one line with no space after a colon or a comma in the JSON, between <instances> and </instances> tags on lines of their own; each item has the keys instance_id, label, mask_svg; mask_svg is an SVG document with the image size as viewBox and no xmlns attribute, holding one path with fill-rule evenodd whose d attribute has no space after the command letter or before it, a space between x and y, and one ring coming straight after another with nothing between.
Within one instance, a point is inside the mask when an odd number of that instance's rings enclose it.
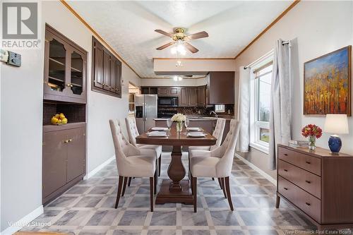
<instances>
[{"instance_id":1,"label":"bottom drawer of the brown wooden dresser","mask_svg":"<svg viewBox=\"0 0 353 235\"><path fill-rule=\"evenodd\" d=\"M313 195L306 193L298 186L290 183L286 179L278 176L278 192L285 196L291 203L303 210L316 222L321 222L321 200L315 198Z\"/></svg>"}]
</instances>

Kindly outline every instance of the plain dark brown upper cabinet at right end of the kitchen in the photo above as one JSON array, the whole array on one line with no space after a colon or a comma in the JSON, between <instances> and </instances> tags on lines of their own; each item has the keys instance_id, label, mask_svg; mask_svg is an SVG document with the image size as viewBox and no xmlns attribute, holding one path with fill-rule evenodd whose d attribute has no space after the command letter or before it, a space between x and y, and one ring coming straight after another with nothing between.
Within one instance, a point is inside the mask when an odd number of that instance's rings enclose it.
<instances>
[{"instance_id":1,"label":"plain dark brown upper cabinet at right end of the kitchen","mask_svg":"<svg viewBox=\"0 0 353 235\"><path fill-rule=\"evenodd\" d=\"M234 104L234 72L210 72L208 104Z\"/></svg>"}]
</instances>

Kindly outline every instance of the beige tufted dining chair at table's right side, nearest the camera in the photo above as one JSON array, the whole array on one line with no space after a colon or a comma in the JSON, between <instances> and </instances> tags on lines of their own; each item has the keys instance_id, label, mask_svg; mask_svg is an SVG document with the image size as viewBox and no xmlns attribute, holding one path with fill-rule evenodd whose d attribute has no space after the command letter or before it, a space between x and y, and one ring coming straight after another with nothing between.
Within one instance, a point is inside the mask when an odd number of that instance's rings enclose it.
<instances>
[{"instance_id":1,"label":"beige tufted dining chair at table's right side, nearest the camera","mask_svg":"<svg viewBox=\"0 0 353 235\"><path fill-rule=\"evenodd\" d=\"M229 188L229 176L231 175L235 147L239 135L239 122L230 121L229 132L225 141L214 150L193 150L190 158L191 188L193 192L193 211L196 212L197 178L213 177L221 179L223 191L227 193L230 210L233 209L232 195Z\"/></svg>"}]
</instances>

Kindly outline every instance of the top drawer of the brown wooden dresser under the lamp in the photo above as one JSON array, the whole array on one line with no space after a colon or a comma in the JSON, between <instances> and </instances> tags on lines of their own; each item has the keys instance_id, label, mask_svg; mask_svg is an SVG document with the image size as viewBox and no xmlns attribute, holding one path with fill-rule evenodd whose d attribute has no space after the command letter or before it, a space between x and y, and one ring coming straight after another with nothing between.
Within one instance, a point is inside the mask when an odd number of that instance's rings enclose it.
<instances>
[{"instance_id":1,"label":"top drawer of the brown wooden dresser under the lamp","mask_svg":"<svg viewBox=\"0 0 353 235\"><path fill-rule=\"evenodd\" d=\"M321 159L278 147L278 158L321 176Z\"/></svg>"}]
</instances>

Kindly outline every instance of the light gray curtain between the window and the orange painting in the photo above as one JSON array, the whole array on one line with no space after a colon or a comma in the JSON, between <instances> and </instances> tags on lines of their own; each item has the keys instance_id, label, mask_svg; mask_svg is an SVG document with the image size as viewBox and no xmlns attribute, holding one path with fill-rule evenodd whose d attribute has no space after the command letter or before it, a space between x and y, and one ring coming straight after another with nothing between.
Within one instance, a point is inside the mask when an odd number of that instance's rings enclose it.
<instances>
[{"instance_id":1,"label":"light gray curtain between the window and the orange painting","mask_svg":"<svg viewBox=\"0 0 353 235\"><path fill-rule=\"evenodd\" d=\"M289 44L275 44L270 102L269 168L276 169L277 144L291 140L292 97Z\"/></svg>"}]
</instances>

